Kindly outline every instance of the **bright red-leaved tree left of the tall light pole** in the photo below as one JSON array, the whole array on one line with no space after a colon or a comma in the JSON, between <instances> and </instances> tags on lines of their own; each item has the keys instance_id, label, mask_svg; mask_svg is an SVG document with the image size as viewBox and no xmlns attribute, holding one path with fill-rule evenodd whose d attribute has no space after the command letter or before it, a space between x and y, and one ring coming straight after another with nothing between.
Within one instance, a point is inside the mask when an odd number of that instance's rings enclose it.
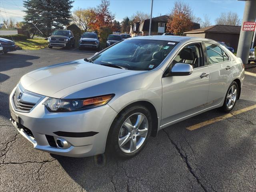
<instances>
[{"instance_id":1,"label":"bright red-leaved tree left of the tall light pole","mask_svg":"<svg viewBox=\"0 0 256 192\"><path fill-rule=\"evenodd\" d=\"M110 1L101 0L100 5L95 9L96 12L96 22L93 25L94 30L99 30L100 27L109 27L112 28L112 21L115 18L115 15L109 9Z\"/></svg>"}]
</instances>

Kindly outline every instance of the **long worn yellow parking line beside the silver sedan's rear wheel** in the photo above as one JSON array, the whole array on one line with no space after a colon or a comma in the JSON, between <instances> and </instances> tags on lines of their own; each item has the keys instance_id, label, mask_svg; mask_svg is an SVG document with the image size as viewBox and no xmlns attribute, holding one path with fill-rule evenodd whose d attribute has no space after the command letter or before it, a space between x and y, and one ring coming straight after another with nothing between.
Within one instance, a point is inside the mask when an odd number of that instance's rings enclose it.
<instances>
[{"instance_id":1,"label":"long worn yellow parking line beside the silver sedan's rear wheel","mask_svg":"<svg viewBox=\"0 0 256 192\"><path fill-rule=\"evenodd\" d=\"M216 117L216 118L213 118L213 119L210 119L208 121L205 121L205 122L202 122L202 123L198 123L198 124L195 124L195 125L192 125L190 127L187 127L186 129L190 130L190 131L193 131L193 130L196 130L198 128L201 128L203 126L206 126L206 125L210 125L212 123L215 123L215 122L218 122L218 121L221 121L221 120L224 120L226 118L230 118L230 117L233 117L235 115L238 115L240 113L244 113L246 111L249 111L249 110L252 110L256 108L256 105L252 105L252 106L249 106L249 107L246 107L246 108L243 108L243 109L240 109L240 110L237 110L235 112L231 112L231 113L228 113L226 115L222 115L222 116L219 116L219 117Z\"/></svg>"}]
</instances>

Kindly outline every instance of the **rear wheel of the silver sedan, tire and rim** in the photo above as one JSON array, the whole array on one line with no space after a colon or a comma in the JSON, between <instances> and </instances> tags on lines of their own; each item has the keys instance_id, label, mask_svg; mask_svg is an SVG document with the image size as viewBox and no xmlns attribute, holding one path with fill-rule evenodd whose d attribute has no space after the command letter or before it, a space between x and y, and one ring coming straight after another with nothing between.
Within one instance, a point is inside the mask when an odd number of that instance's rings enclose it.
<instances>
[{"instance_id":1,"label":"rear wheel of the silver sedan, tire and rim","mask_svg":"<svg viewBox=\"0 0 256 192\"><path fill-rule=\"evenodd\" d=\"M233 88L233 91L232 91L232 88ZM226 93L224 103L222 107L220 107L220 110L223 112L230 112L236 105L238 95L239 95L238 84L235 81L233 81L232 84L228 87L228 91ZM229 102L230 102L230 105L229 105Z\"/></svg>"}]
</instances>

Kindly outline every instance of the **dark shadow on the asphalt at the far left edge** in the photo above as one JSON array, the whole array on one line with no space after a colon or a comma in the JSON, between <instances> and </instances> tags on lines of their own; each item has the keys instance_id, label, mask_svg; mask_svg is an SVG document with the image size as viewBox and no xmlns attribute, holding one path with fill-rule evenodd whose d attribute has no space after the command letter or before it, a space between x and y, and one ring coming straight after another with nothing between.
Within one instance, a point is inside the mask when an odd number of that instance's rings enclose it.
<instances>
[{"instance_id":1,"label":"dark shadow on the asphalt at the far left edge","mask_svg":"<svg viewBox=\"0 0 256 192\"><path fill-rule=\"evenodd\" d=\"M0 72L11 70L13 68L23 68L32 65L29 60L38 59L38 56L26 54L13 54L12 52L0 56Z\"/></svg>"}]
</instances>

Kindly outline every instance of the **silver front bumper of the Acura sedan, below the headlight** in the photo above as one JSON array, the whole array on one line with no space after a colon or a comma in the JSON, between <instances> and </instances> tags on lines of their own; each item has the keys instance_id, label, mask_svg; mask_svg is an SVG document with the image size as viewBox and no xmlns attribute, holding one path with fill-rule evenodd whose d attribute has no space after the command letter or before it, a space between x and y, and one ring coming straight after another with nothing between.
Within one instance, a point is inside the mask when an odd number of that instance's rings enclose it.
<instances>
[{"instance_id":1,"label":"silver front bumper of the Acura sedan, below the headlight","mask_svg":"<svg viewBox=\"0 0 256 192\"><path fill-rule=\"evenodd\" d=\"M109 128L117 115L110 106L74 112L48 112L42 104L48 98L45 97L30 112L19 112L15 110L12 101L14 90L9 100L10 112L18 120L11 118L12 124L35 149L71 157L104 153ZM53 142L57 138L66 140L68 147L52 146L48 136L53 138Z\"/></svg>"}]
</instances>

